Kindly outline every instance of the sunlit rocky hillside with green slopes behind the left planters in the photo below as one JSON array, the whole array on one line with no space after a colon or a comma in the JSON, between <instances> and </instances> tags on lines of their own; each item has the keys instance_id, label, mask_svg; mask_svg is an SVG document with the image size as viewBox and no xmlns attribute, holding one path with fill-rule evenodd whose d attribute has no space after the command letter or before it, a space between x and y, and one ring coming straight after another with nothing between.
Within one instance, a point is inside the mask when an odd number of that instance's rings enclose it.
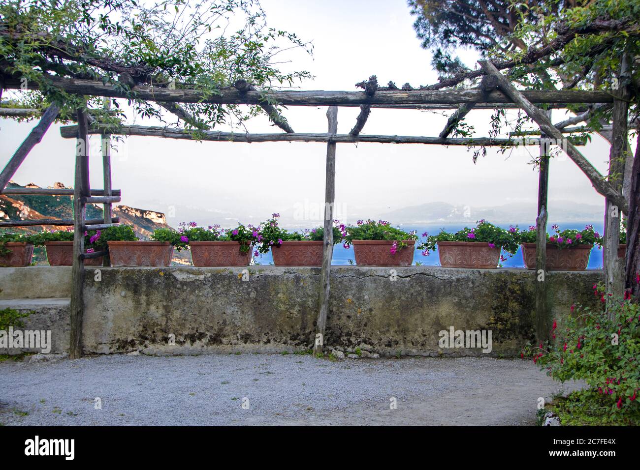
<instances>
[{"instance_id":1,"label":"sunlit rocky hillside with green slopes behind the left planters","mask_svg":"<svg viewBox=\"0 0 640 470\"><path fill-rule=\"evenodd\" d=\"M9 182L10 188L38 188L33 183L21 186L15 182ZM55 183L49 186L52 189L70 189L62 183ZM125 205L113 206L113 217L120 217L121 224L131 225L136 235L140 239L148 239L157 228L170 228L162 212L154 210L139 209ZM72 196L36 196L33 194L12 194L6 196L0 194L0 221L8 220L33 220L33 219L73 219L73 197ZM94 204L86 206L87 219L101 219L103 217L102 207ZM42 230L43 226L16 227L15 230L36 232ZM65 228L65 226L46 226L48 229ZM36 253L36 260L44 261L42 253ZM42 259L41 259L42 258ZM177 253L175 261L185 263L186 256Z\"/></svg>"}]
</instances>

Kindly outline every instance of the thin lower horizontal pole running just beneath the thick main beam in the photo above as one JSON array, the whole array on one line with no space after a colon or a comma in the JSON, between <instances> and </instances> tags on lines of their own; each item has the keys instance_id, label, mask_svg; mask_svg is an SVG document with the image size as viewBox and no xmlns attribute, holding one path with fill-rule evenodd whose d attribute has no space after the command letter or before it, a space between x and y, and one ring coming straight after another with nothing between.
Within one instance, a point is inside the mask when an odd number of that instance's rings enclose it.
<instances>
[{"instance_id":1,"label":"thin lower horizontal pole running just beneath the thick main beam","mask_svg":"<svg viewBox=\"0 0 640 470\"><path fill-rule=\"evenodd\" d=\"M99 134L100 128L90 129L91 134ZM193 135L184 129L169 129L159 126L123 126L112 130L113 134L123 136L165 137L169 139L195 140ZM77 126L60 127L60 135L65 139L75 137ZM460 137L441 139L440 137L421 136L371 136L360 134L236 134L234 132L207 131L200 132L198 138L204 141L260 143L260 142L324 142L328 143L394 143L394 144L424 144L424 145L463 145L463 146L516 146L522 145L522 139L501 139L497 137Z\"/></svg>"}]
</instances>

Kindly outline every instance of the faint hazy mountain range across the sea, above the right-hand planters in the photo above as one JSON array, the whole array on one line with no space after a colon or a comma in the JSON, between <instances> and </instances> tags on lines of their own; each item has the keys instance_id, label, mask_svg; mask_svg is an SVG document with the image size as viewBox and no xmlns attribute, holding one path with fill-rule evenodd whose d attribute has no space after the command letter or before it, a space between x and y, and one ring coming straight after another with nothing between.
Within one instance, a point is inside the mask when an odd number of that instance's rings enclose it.
<instances>
[{"instance_id":1,"label":"faint hazy mountain range across the sea, above the right-hand planters","mask_svg":"<svg viewBox=\"0 0 640 470\"><path fill-rule=\"evenodd\" d=\"M433 223L475 223L486 219L497 224L534 223L536 203L513 203L497 207L452 205L445 202L425 203L403 207L381 214L381 219L393 224L424 225ZM556 222L596 221L604 214L604 207L573 201L549 201L549 220Z\"/></svg>"}]
</instances>

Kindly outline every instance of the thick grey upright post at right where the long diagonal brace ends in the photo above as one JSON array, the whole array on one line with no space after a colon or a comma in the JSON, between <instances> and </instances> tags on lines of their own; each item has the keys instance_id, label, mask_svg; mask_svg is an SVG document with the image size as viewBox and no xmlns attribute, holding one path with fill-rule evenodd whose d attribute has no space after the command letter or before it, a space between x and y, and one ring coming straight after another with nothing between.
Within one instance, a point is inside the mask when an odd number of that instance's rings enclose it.
<instances>
[{"instance_id":1,"label":"thick grey upright post at right where the long diagonal brace ends","mask_svg":"<svg viewBox=\"0 0 640 470\"><path fill-rule=\"evenodd\" d=\"M630 57L623 54L620 61L619 88L614 90L611 148L609 148L609 184L622 192L628 149L628 108L630 90ZM626 201L625 201L626 202ZM624 290L624 259L618 258L620 245L620 221L622 209L616 207L615 201L605 198L604 247L602 250L602 266L607 294L612 294L612 302L617 302ZM609 295L607 295L609 297ZM607 302L607 311L609 309ZM612 313L610 313L612 315Z\"/></svg>"}]
</instances>

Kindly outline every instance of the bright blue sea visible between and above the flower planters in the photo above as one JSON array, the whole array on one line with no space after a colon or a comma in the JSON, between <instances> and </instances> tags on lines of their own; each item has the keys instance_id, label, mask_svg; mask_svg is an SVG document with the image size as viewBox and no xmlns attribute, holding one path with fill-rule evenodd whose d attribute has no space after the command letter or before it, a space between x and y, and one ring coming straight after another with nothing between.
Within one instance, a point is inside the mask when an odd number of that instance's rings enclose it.
<instances>
[{"instance_id":1,"label":"bright blue sea visible between and above the flower planters","mask_svg":"<svg viewBox=\"0 0 640 470\"><path fill-rule=\"evenodd\" d=\"M534 222L528 223L518 223L520 229L526 230L530 225L535 225ZM558 224L561 230L575 228L577 230L582 230L584 226L591 224L593 228L602 234L604 224L602 221L600 223L595 222L550 222L547 224L547 230L549 233L552 233L551 226L553 224ZM415 226L415 225L400 225L400 228L405 231L417 230L417 234L419 236L422 233L427 232L429 235L436 235L440 230L444 229L445 231L458 231L465 226L469 226L469 224L444 224L444 225L423 225L423 226ZM475 225L474 225L475 226ZM509 224L499 224L502 228L509 228ZM289 231L294 231L295 229L291 229ZM522 248L518 248L518 251L515 255L509 257L508 254L502 252L502 255L507 257L507 260L502 263L503 267L524 267L524 262L522 261ZM342 245L336 245L333 247L333 265L349 265L349 260L355 264L355 256L353 255L353 247L346 249ZM260 264L273 264L273 258L271 257L271 252L267 255L262 255L257 258L257 262ZM433 251L429 256L422 256L422 252L418 249L415 250L415 254L413 255L413 264L416 262L422 263L423 265L429 266L439 266L440 259L438 258L438 251ZM594 247L591 250L591 256L589 256L589 265L587 269L602 269L602 249L598 249L598 247Z\"/></svg>"}]
</instances>

